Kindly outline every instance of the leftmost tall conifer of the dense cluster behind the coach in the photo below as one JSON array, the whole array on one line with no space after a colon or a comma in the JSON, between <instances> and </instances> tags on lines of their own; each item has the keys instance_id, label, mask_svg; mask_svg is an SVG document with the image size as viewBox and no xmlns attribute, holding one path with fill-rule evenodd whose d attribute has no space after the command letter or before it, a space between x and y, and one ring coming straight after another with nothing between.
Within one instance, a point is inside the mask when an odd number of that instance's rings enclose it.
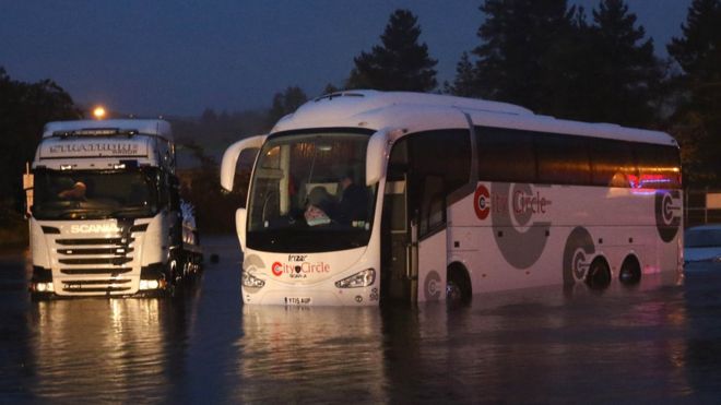
<instances>
[{"instance_id":1,"label":"leftmost tall conifer of the dense cluster behind the coach","mask_svg":"<svg viewBox=\"0 0 721 405\"><path fill-rule=\"evenodd\" d=\"M555 68L546 56L570 25L566 0L486 0L481 11L473 94L543 111Z\"/></svg>"}]
</instances>

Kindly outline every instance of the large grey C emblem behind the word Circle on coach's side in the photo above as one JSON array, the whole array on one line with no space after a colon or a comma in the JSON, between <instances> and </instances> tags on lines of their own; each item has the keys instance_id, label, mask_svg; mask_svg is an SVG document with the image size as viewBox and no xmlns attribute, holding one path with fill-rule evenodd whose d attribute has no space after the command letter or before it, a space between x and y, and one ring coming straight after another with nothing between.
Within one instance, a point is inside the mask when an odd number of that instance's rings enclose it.
<instances>
[{"instance_id":1,"label":"large grey C emblem behind the word Circle on coach's side","mask_svg":"<svg viewBox=\"0 0 721 405\"><path fill-rule=\"evenodd\" d=\"M547 187L536 188L546 189ZM546 247L551 222L532 222L540 213L530 201L534 189L525 183L494 182L490 184L493 198L490 223L493 237L504 259L516 269L528 269L533 265ZM544 204L551 201L543 199ZM544 206L545 210L545 206ZM517 227L524 227L520 230Z\"/></svg>"}]
</instances>

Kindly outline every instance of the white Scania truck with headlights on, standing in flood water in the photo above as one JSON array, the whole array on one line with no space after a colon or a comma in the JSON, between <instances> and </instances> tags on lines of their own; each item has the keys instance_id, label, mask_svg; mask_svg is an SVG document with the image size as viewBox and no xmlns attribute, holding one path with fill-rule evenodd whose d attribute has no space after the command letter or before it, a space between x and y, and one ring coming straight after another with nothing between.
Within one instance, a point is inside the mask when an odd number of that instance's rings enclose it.
<instances>
[{"instance_id":1,"label":"white Scania truck with headlights on, standing in flood water","mask_svg":"<svg viewBox=\"0 0 721 405\"><path fill-rule=\"evenodd\" d=\"M167 121L49 122L27 171L33 298L164 296L201 271Z\"/></svg>"}]
</instances>

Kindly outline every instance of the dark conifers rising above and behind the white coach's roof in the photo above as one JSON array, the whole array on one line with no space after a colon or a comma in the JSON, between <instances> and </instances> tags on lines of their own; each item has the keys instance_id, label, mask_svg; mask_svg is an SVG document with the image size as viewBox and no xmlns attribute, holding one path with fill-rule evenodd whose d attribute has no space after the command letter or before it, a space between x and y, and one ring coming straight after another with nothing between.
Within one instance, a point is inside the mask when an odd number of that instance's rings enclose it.
<instances>
[{"instance_id":1,"label":"dark conifers rising above and behind the white coach's roof","mask_svg":"<svg viewBox=\"0 0 721 405\"><path fill-rule=\"evenodd\" d=\"M480 10L480 44L461 55L442 92L669 131L682 144L686 184L721 187L721 0L693 1L669 60L655 56L625 0L600 0L590 13L566 0L485 0ZM413 13L393 12L344 87L436 91L421 33Z\"/></svg>"}]
</instances>

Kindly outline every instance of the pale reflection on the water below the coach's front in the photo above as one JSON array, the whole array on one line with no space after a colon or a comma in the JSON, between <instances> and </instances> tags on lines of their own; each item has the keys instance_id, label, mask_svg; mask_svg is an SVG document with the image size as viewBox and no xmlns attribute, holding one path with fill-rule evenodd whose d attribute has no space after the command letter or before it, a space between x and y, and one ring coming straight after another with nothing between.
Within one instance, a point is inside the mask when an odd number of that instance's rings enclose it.
<instances>
[{"instance_id":1,"label":"pale reflection on the water below the coach's front","mask_svg":"<svg viewBox=\"0 0 721 405\"><path fill-rule=\"evenodd\" d=\"M243 312L240 402L386 401L377 308L257 308Z\"/></svg>"}]
</instances>

